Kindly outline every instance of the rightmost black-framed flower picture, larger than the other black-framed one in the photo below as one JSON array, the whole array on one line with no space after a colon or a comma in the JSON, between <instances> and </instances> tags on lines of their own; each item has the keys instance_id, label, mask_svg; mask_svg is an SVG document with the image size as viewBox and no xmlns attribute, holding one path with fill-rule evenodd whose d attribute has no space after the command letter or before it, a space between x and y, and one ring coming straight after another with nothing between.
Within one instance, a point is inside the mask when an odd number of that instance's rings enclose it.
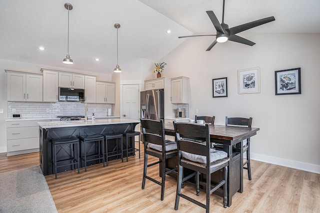
<instances>
[{"instance_id":1,"label":"rightmost black-framed flower picture, larger than the other black-framed one","mask_svg":"<svg viewBox=\"0 0 320 213\"><path fill-rule=\"evenodd\" d=\"M300 68L275 71L275 95L301 94Z\"/></svg>"}]
</instances>

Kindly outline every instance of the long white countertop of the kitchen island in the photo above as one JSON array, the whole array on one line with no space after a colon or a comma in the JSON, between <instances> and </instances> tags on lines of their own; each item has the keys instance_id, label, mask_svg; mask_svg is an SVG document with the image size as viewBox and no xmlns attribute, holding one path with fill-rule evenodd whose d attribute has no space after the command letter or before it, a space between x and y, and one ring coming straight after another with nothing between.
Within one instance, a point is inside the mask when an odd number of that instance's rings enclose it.
<instances>
[{"instance_id":1,"label":"long white countertop of the kitchen island","mask_svg":"<svg viewBox=\"0 0 320 213\"><path fill-rule=\"evenodd\" d=\"M108 124L129 124L140 123L139 120L131 119L99 119L95 121L50 121L50 122L38 122L38 125L43 129L60 128L60 127L81 127L81 126L96 126L96 125L108 125Z\"/></svg>"}]
</instances>

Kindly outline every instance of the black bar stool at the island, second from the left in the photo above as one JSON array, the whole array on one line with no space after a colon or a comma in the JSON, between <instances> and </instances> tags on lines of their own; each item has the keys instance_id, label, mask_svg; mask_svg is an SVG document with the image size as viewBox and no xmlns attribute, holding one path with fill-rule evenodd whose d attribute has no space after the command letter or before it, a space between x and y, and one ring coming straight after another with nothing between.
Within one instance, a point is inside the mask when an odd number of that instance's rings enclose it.
<instances>
[{"instance_id":1,"label":"black bar stool at the island, second from the left","mask_svg":"<svg viewBox=\"0 0 320 213\"><path fill-rule=\"evenodd\" d=\"M86 162L89 161L96 161L102 160L102 164L104 167L104 136L103 135L89 135L89 136L80 136L80 143L81 143L81 163L84 162L84 172L86 172ZM86 153L85 145L87 143L95 143L97 145L97 152L95 152L92 155L87 155L90 153L90 151L94 148L94 144L91 145L88 153ZM82 150L82 144L83 144L83 150ZM83 157L82 157L83 153ZM87 157L89 159L87 159Z\"/></svg>"}]
</instances>

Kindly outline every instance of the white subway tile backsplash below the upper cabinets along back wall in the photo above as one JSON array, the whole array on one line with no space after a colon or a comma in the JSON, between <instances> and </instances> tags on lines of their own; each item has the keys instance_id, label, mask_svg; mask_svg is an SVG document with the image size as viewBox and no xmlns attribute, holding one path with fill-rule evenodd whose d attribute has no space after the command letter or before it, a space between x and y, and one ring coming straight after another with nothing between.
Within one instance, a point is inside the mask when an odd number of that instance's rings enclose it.
<instances>
[{"instance_id":1,"label":"white subway tile backsplash below the upper cabinets along back wall","mask_svg":"<svg viewBox=\"0 0 320 213\"><path fill-rule=\"evenodd\" d=\"M87 115L107 116L107 109L111 104L87 104ZM8 118L12 114L21 114L22 118L45 118L66 115L84 116L84 103L81 102L56 102L56 103L30 103L8 102Z\"/></svg>"}]
</instances>

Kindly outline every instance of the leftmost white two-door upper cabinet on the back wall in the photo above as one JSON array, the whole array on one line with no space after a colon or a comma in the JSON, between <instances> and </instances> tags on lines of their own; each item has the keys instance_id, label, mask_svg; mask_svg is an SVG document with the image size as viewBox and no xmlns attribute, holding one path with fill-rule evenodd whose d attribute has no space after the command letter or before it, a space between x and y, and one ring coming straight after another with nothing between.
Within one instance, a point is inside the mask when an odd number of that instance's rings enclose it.
<instances>
[{"instance_id":1,"label":"leftmost white two-door upper cabinet on the back wall","mask_svg":"<svg viewBox=\"0 0 320 213\"><path fill-rule=\"evenodd\" d=\"M42 74L5 71L7 72L8 101L42 101Z\"/></svg>"}]
</instances>

